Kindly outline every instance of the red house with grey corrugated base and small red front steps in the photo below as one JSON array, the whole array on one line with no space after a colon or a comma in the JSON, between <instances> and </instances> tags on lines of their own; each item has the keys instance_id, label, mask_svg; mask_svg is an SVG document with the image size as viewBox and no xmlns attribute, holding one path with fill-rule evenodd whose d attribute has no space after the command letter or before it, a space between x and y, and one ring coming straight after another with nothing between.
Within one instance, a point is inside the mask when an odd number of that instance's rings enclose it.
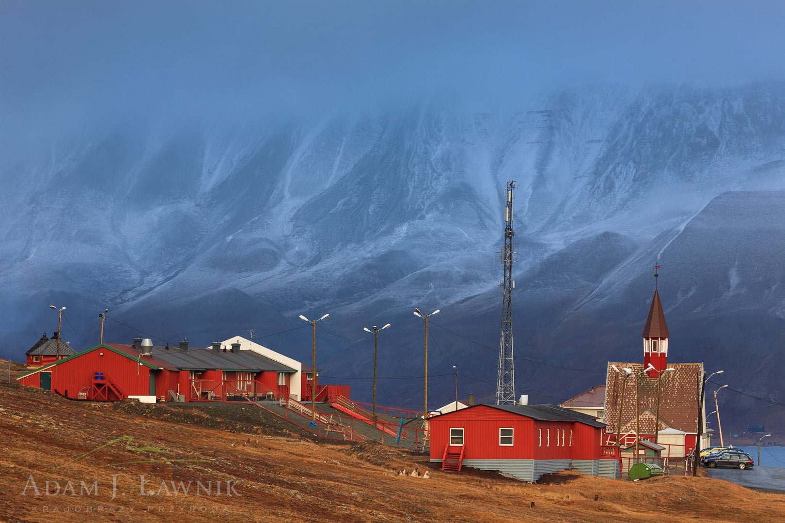
<instances>
[{"instance_id":1,"label":"red house with grey corrugated base and small red front steps","mask_svg":"<svg viewBox=\"0 0 785 523\"><path fill-rule=\"evenodd\" d=\"M602 446L604 423L556 405L474 405L429 422L431 461L444 470L497 470L523 481L570 468L619 477L615 448Z\"/></svg>"}]
</instances>

